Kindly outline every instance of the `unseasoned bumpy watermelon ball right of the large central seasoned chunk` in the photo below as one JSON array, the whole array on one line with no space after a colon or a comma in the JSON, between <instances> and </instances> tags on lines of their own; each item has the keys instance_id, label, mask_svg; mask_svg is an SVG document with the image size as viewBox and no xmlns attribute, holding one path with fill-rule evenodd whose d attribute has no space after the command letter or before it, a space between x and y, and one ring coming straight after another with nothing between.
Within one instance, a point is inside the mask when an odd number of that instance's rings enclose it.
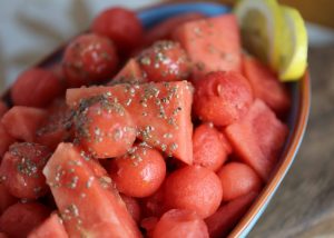
<instances>
[{"instance_id":1,"label":"unseasoned bumpy watermelon ball right of the large central seasoned chunk","mask_svg":"<svg viewBox=\"0 0 334 238\"><path fill-rule=\"evenodd\" d=\"M195 88L195 113L215 126L228 126L237 121L247 113L253 102L252 87L238 72L210 72Z\"/></svg>"}]
</instances>

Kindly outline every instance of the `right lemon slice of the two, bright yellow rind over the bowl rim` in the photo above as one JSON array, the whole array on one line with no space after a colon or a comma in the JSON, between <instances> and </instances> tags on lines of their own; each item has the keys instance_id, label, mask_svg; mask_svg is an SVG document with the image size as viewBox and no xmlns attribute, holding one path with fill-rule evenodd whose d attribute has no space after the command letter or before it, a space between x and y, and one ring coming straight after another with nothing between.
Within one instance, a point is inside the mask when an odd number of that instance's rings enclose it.
<instances>
[{"instance_id":1,"label":"right lemon slice of the two, bright yellow rind over the bowl rim","mask_svg":"<svg viewBox=\"0 0 334 238\"><path fill-rule=\"evenodd\" d=\"M284 40L281 42L281 59L275 67L282 81L299 79L307 67L307 31L296 9L282 6L285 21Z\"/></svg>"}]
</instances>

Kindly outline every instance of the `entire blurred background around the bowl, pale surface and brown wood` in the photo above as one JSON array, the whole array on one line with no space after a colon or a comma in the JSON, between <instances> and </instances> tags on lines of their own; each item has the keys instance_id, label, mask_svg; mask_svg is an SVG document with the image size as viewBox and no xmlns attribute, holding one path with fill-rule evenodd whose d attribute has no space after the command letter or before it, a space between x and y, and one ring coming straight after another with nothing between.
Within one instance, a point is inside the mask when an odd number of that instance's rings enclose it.
<instances>
[{"instance_id":1,"label":"entire blurred background around the bowl, pale surface and brown wood","mask_svg":"<svg viewBox=\"0 0 334 238\"><path fill-rule=\"evenodd\" d=\"M57 46L87 29L101 9L138 9L157 2L1 1L0 89ZM312 112L297 159L249 237L334 237L334 1L282 2L299 8L308 20Z\"/></svg>"}]
</instances>

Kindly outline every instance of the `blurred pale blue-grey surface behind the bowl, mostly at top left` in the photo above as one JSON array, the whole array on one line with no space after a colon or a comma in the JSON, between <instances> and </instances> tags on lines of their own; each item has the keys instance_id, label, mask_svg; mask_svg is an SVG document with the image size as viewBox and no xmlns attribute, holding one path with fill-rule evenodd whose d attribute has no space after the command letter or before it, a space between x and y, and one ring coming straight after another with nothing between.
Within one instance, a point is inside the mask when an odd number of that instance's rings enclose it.
<instances>
[{"instance_id":1,"label":"blurred pale blue-grey surface behind the bowl, mostly at top left","mask_svg":"<svg viewBox=\"0 0 334 238\"><path fill-rule=\"evenodd\" d=\"M140 8L158 0L2 0L0 3L0 89L61 42L87 29L101 9ZM311 46L334 43L334 32L307 24Z\"/></svg>"}]
</instances>

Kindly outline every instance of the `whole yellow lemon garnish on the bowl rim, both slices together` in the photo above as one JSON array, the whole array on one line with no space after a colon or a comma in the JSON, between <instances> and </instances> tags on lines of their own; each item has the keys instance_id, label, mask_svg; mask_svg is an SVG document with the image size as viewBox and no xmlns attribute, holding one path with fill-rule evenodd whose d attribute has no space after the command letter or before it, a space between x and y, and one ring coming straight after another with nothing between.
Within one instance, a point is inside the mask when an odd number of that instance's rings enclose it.
<instances>
[{"instance_id":1,"label":"whole yellow lemon garnish on the bowl rim, both slices together","mask_svg":"<svg viewBox=\"0 0 334 238\"><path fill-rule=\"evenodd\" d=\"M299 12L276 0L240 0L235 13L246 50L282 81L299 79L307 66L307 32Z\"/></svg>"}]
</instances>

